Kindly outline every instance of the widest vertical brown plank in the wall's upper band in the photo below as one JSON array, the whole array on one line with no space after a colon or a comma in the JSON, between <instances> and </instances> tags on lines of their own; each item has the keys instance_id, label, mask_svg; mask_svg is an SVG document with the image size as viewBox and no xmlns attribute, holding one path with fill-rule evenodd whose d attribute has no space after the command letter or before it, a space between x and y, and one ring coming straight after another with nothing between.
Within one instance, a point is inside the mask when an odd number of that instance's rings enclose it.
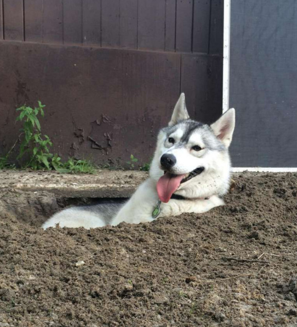
<instances>
[{"instance_id":1,"label":"widest vertical brown plank in the wall's upper band","mask_svg":"<svg viewBox=\"0 0 297 327\"><path fill-rule=\"evenodd\" d=\"M138 0L138 49L165 49L165 0Z\"/></svg>"}]
</instances>

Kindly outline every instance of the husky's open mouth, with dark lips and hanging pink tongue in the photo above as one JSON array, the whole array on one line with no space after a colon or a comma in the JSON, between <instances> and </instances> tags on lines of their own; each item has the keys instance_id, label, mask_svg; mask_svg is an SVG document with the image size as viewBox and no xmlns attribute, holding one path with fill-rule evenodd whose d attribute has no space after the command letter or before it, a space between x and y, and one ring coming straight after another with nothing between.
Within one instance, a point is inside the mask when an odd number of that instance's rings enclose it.
<instances>
[{"instance_id":1,"label":"husky's open mouth, with dark lips and hanging pink tongue","mask_svg":"<svg viewBox=\"0 0 297 327\"><path fill-rule=\"evenodd\" d=\"M157 192L159 199L162 202L167 203L172 194L178 189L181 183L184 183L191 178L201 174L204 171L204 167L198 167L191 172L183 175L174 175L168 171L164 171L164 175L158 180Z\"/></svg>"}]
</instances>

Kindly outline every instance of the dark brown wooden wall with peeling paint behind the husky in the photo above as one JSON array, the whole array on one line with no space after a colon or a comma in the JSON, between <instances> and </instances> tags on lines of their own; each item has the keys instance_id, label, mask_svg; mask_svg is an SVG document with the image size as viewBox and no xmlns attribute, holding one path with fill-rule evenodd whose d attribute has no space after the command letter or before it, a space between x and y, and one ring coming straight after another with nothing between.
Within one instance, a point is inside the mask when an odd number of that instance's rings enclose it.
<instances>
[{"instance_id":1,"label":"dark brown wooden wall with peeling paint behind the husky","mask_svg":"<svg viewBox=\"0 0 297 327\"><path fill-rule=\"evenodd\" d=\"M222 0L0 0L0 155L40 100L62 157L150 160L181 91L222 111Z\"/></svg>"}]
</instances>

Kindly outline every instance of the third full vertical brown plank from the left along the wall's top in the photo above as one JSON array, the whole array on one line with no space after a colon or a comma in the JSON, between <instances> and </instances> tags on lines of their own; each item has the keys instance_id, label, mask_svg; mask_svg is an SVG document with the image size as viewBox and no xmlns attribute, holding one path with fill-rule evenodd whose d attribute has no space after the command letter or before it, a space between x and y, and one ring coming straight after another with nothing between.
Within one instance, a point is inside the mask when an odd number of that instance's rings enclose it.
<instances>
[{"instance_id":1,"label":"third full vertical brown plank from the left along the wall's top","mask_svg":"<svg viewBox=\"0 0 297 327\"><path fill-rule=\"evenodd\" d=\"M43 0L43 42L63 43L63 0Z\"/></svg>"}]
</instances>

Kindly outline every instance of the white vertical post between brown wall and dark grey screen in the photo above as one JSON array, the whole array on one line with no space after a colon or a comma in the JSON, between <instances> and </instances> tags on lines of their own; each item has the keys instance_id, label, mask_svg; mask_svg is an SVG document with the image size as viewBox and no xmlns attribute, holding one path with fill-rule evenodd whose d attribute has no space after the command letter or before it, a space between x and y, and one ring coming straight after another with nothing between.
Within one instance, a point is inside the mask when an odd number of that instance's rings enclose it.
<instances>
[{"instance_id":1,"label":"white vertical post between brown wall and dark grey screen","mask_svg":"<svg viewBox=\"0 0 297 327\"><path fill-rule=\"evenodd\" d=\"M223 113L229 109L231 0L224 0Z\"/></svg>"}]
</instances>

